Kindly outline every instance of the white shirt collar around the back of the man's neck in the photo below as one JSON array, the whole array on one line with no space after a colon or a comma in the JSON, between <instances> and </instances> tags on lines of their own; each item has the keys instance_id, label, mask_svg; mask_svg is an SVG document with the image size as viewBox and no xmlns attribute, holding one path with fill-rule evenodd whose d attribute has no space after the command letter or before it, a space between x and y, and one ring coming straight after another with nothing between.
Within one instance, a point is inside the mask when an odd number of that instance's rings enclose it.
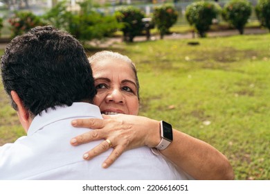
<instances>
[{"instance_id":1,"label":"white shirt collar around the back of the man's neck","mask_svg":"<svg viewBox=\"0 0 270 194\"><path fill-rule=\"evenodd\" d=\"M89 118L93 116L95 118L102 118L99 107L89 103L73 103L70 107L64 105L64 107L57 106L55 109L49 108L47 111L42 111L41 116L39 114L35 116L27 135L30 136L55 121L66 118Z\"/></svg>"}]
</instances>

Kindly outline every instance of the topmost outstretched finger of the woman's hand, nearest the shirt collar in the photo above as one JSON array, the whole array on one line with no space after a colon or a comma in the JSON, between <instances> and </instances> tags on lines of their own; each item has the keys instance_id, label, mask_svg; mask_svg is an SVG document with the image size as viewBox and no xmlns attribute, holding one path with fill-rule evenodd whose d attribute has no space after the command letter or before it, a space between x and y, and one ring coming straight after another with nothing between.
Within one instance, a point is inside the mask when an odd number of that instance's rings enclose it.
<instances>
[{"instance_id":1,"label":"topmost outstretched finger of the woman's hand, nearest the shirt collar","mask_svg":"<svg viewBox=\"0 0 270 194\"><path fill-rule=\"evenodd\" d=\"M91 129L97 129L104 127L103 119L100 118L81 118L71 121L73 127L87 127Z\"/></svg>"}]
</instances>

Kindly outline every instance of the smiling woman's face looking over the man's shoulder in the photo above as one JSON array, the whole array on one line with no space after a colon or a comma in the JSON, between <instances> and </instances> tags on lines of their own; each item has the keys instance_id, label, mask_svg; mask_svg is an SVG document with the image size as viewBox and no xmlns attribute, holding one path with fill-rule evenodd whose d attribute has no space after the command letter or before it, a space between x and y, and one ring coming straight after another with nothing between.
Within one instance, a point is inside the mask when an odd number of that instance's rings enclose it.
<instances>
[{"instance_id":1,"label":"smiling woman's face looking over the man's shoulder","mask_svg":"<svg viewBox=\"0 0 270 194\"><path fill-rule=\"evenodd\" d=\"M93 104L102 114L138 114L136 78L132 67L123 60L101 60L92 64L98 91Z\"/></svg>"}]
</instances>

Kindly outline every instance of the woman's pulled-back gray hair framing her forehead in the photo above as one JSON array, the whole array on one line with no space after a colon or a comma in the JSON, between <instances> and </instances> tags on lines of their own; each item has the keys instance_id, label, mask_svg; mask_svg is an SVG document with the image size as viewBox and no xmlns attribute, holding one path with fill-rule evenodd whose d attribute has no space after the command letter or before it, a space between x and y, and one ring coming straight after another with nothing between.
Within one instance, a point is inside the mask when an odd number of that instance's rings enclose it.
<instances>
[{"instance_id":1,"label":"woman's pulled-back gray hair framing her forehead","mask_svg":"<svg viewBox=\"0 0 270 194\"><path fill-rule=\"evenodd\" d=\"M135 78L136 78L137 96L138 96L138 100L140 100L140 97L139 97L140 85L138 83L137 69L135 67L134 62L132 62L132 60L129 59L126 55L121 55L120 53L116 53L113 51L100 51L100 52L92 55L90 58L88 58L88 60L90 62L90 65L92 65L92 64L95 64L96 62L106 60L108 58L109 59L116 59L116 60L123 60L124 62L127 62L127 64L129 64L129 66L132 68L134 75L135 75Z\"/></svg>"}]
</instances>

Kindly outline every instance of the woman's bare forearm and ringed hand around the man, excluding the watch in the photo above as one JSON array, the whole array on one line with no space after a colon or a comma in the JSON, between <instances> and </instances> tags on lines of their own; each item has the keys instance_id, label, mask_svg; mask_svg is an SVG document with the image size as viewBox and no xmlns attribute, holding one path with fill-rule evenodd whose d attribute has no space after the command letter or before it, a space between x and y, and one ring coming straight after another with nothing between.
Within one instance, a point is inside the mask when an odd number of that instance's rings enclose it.
<instances>
[{"instance_id":1,"label":"woman's bare forearm and ringed hand around the man, excluding the watch","mask_svg":"<svg viewBox=\"0 0 270 194\"><path fill-rule=\"evenodd\" d=\"M161 141L159 121L143 117L118 114L103 115L105 118L78 119L75 127L89 127L91 130L71 140L72 145L80 145L98 139L109 139L114 148L103 167L109 167L125 150L147 145L154 148ZM103 141L84 155L91 159L109 149ZM188 134L173 130L173 141L161 154L195 179L233 179L233 168L221 152L208 143Z\"/></svg>"}]
</instances>

